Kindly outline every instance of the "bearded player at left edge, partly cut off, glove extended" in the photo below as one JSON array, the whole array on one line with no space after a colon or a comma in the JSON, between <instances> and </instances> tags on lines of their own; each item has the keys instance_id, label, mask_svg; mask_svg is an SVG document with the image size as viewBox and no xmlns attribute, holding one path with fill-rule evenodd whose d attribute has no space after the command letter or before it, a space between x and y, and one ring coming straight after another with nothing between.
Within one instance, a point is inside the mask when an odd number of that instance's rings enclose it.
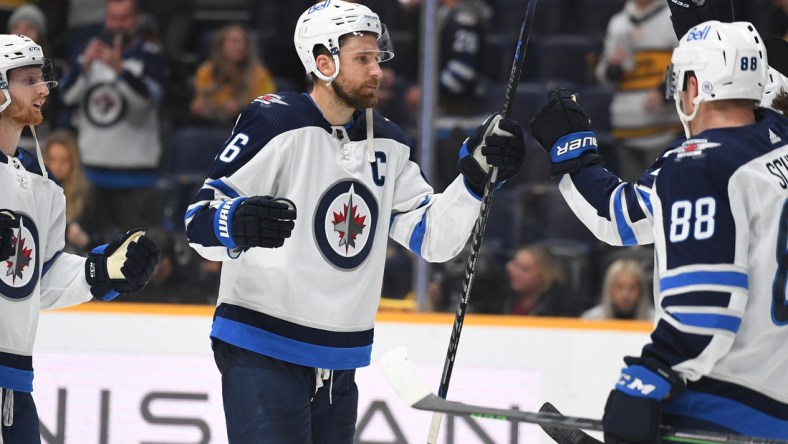
<instances>
[{"instance_id":1,"label":"bearded player at left edge, partly cut off, glove extended","mask_svg":"<svg viewBox=\"0 0 788 444\"><path fill-rule=\"evenodd\" d=\"M17 146L26 126L35 138L41 107L57 85L51 68L29 38L0 35L0 443L41 442L31 395L39 311L138 291L159 258L141 230L88 258L62 251L63 190L48 177L40 148L36 160Z\"/></svg>"}]
</instances>

